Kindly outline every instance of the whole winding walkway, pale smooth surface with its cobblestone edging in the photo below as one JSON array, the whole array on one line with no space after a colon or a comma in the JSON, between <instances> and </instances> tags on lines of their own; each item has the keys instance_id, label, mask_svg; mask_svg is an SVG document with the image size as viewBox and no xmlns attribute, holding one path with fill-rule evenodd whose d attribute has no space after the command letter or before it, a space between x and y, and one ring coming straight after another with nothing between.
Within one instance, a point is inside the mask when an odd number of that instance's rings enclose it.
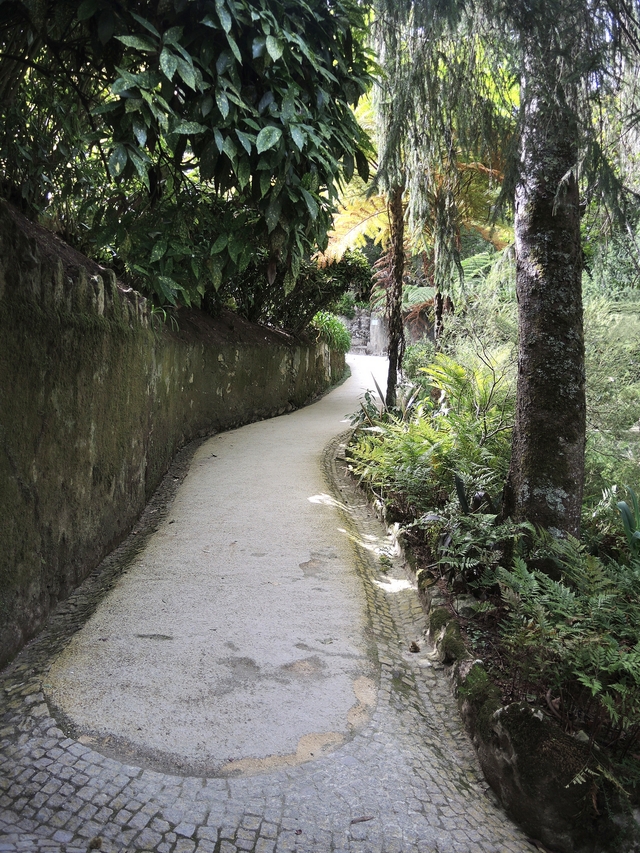
<instances>
[{"instance_id":1,"label":"whole winding walkway, pale smooth surface with its cobblestone edging","mask_svg":"<svg viewBox=\"0 0 640 853\"><path fill-rule=\"evenodd\" d=\"M335 462L384 374L350 361L313 406L183 454L174 499L0 674L0 853L534 849Z\"/></svg>"}]
</instances>

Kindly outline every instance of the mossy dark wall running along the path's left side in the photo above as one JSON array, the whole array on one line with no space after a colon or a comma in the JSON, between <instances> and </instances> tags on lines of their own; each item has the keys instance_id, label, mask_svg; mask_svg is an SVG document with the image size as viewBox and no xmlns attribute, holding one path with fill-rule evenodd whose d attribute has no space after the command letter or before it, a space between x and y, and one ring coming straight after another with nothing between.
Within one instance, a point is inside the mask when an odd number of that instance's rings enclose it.
<instances>
[{"instance_id":1,"label":"mossy dark wall running along the path's left side","mask_svg":"<svg viewBox=\"0 0 640 853\"><path fill-rule=\"evenodd\" d=\"M304 405L344 356L229 312L163 324L0 203L0 666L129 531L181 445Z\"/></svg>"}]
</instances>

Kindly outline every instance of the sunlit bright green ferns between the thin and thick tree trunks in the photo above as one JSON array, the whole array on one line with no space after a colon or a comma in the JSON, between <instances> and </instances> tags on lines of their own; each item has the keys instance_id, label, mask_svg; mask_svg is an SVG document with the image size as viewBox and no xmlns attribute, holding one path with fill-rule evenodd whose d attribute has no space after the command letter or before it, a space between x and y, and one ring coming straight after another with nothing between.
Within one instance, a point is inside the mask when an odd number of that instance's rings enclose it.
<instances>
[{"instance_id":1,"label":"sunlit bright green ferns between the thin and thick tree trunks","mask_svg":"<svg viewBox=\"0 0 640 853\"><path fill-rule=\"evenodd\" d=\"M452 499L459 514L455 474L470 496L501 492L515 402L512 314L497 288L478 286L451 318L443 351L424 364L432 345L408 348L405 371L414 384L401 386L399 399L410 394L412 405L401 402L404 411L394 413L366 402L353 468L404 523L419 526Z\"/></svg>"}]
</instances>

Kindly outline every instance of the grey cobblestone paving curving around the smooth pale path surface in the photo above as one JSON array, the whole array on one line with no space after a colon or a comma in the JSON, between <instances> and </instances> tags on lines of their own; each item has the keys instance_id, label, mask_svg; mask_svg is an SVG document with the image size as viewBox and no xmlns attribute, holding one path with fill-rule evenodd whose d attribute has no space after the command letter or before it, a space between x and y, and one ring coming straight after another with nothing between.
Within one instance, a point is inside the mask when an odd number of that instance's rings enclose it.
<instances>
[{"instance_id":1,"label":"grey cobblestone paving curving around the smooth pale path surface","mask_svg":"<svg viewBox=\"0 0 640 853\"><path fill-rule=\"evenodd\" d=\"M45 701L48 664L135 551L134 538L0 675L0 853L534 850L487 792L446 673L424 650L409 652L411 641L424 645L425 617L398 559L382 571L381 525L344 478L336 489L350 506L344 535L354 540L380 665L369 724L315 761L232 778L129 766L65 732Z\"/></svg>"}]
</instances>

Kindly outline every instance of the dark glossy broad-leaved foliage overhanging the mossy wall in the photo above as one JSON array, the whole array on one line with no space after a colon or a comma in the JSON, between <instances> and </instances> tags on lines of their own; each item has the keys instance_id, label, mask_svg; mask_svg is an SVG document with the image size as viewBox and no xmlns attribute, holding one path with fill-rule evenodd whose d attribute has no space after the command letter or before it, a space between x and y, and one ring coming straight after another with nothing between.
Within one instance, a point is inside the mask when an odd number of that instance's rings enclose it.
<instances>
[{"instance_id":1,"label":"dark glossy broad-leaved foliage overhanging the mossy wall","mask_svg":"<svg viewBox=\"0 0 640 853\"><path fill-rule=\"evenodd\" d=\"M199 303L261 248L286 296L326 241L339 182L368 171L350 109L370 83L363 8L135 9L3 5L4 194L161 303Z\"/></svg>"}]
</instances>

